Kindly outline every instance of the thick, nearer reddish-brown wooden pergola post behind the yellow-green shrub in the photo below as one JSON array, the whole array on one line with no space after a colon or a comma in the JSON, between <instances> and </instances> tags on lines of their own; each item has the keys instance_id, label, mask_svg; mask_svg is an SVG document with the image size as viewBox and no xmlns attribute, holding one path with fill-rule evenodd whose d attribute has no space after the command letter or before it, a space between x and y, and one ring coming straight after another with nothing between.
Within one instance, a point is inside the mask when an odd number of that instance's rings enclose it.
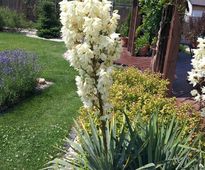
<instances>
[{"instance_id":1,"label":"thick, nearer reddish-brown wooden pergola post behind the yellow-green shrub","mask_svg":"<svg viewBox=\"0 0 205 170\"><path fill-rule=\"evenodd\" d=\"M169 95L172 92L182 30L181 16L177 8L175 4L168 5L164 9L157 43L157 53L152 61L152 70L162 73L163 78L169 80Z\"/></svg>"}]
</instances>

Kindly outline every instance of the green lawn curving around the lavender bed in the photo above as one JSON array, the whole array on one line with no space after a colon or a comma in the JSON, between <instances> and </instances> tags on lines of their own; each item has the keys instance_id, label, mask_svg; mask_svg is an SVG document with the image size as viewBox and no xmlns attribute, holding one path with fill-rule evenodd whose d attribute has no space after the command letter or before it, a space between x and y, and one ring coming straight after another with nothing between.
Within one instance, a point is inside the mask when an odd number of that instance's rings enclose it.
<instances>
[{"instance_id":1,"label":"green lawn curving around the lavender bed","mask_svg":"<svg viewBox=\"0 0 205 170\"><path fill-rule=\"evenodd\" d=\"M0 170L36 170L57 156L81 102L75 74L62 57L63 43L0 33L0 51L24 49L36 53L41 77L54 85L0 115Z\"/></svg>"}]
</instances>

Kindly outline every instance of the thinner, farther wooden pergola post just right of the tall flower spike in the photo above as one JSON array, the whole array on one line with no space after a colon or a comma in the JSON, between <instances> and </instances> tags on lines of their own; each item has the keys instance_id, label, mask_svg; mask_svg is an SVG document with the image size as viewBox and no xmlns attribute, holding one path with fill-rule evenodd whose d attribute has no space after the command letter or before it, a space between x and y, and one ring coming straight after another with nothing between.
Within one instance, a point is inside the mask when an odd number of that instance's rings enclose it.
<instances>
[{"instance_id":1,"label":"thinner, farther wooden pergola post just right of the tall flower spike","mask_svg":"<svg viewBox=\"0 0 205 170\"><path fill-rule=\"evenodd\" d=\"M134 55L135 53L135 32L137 27L137 16L138 16L138 0L133 0L132 4L132 16L130 21L129 37L128 37L128 51Z\"/></svg>"}]
</instances>

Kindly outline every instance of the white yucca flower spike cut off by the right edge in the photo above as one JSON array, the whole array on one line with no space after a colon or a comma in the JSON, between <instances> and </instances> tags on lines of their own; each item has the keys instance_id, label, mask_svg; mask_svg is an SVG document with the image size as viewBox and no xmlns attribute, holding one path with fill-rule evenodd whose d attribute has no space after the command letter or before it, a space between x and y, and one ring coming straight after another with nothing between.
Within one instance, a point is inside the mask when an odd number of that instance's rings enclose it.
<instances>
[{"instance_id":1,"label":"white yucca flower spike cut off by the right edge","mask_svg":"<svg viewBox=\"0 0 205 170\"><path fill-rule=\"evenodd\" d=\"M198 39L198 48L194 50L193 69L188 72L188 80L195 89L191 91L196 101L205 101L205 39ZM203 109L202 109L203 110Z\"/></svg>"}]
</instances>

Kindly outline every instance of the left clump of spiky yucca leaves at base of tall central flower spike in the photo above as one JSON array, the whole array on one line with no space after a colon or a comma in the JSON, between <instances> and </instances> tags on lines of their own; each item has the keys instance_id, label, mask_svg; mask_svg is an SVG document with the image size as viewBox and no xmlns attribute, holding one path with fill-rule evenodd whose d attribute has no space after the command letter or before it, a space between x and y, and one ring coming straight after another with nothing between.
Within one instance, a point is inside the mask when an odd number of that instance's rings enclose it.
<instances>
[{"instance_id":1,"label":"left clump of spiky yucca leaves at base of tall central flower spike","mask_svg":"<svg viewBox=\"0 0 205 170\"><path fill-rule=\"evenodd\" d=\"M100 128L98 128L90 118L90 130L88 131L83 124L79 125L75 122L75 130L78 136L78 143L67 139L67 142L77 153L74 158L55 159L51 162L52 169L89 169L89 170L111 170L125 169L126 148L129 141L125 133L124 124L121 127L119 137L116 136L116 121L113 118L110 122L106 122L106 144ZM91 132L91 133L89 133Z\"/></svg>"}]
</instances>

